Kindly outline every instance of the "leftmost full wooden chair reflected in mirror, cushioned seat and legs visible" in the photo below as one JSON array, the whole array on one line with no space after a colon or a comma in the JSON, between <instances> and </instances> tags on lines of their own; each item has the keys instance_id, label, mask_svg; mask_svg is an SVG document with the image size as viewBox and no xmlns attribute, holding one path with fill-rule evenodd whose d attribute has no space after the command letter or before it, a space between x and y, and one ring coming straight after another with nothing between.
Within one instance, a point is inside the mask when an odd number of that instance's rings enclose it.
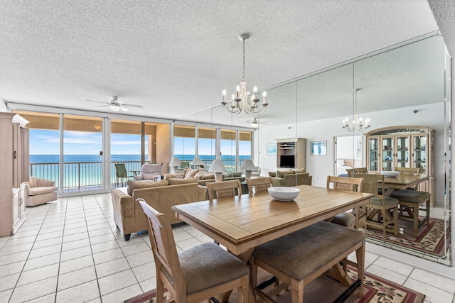
<instances>
[{"instance_id":1,"label":"leftmost full wooden chair reflected in mirror, cushioned seat and legs visible","mask_svg":"<svg viewBox=\"0 0 455 303\"><path fill-rule=\"evenodd\" d=\"M384 176L353 173L353 177L363 178L363 192L375 195L369 203L362 206L360 227L382 229L384 243L387 231L398 236L398 200L379 194L379 192L385 192Z\"/></svg>"}]
</instances>

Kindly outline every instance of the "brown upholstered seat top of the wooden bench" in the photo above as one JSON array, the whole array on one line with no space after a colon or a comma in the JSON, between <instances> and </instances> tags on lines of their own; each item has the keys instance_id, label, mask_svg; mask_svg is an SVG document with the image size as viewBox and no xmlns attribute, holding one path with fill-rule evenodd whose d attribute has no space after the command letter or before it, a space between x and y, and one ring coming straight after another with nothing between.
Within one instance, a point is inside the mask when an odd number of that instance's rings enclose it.
<instances>
[{"instance_id":1,"label":"brown upholstered seat top of the wooden bench","mask_svg":"<svg viewBox=\"0 0 455 303\"><path fill-rule=\"evenodd\" d=\"M321 221L257 246L253 256L300 281L364 240L363 231Z\"/></svg>"}]
</instances>

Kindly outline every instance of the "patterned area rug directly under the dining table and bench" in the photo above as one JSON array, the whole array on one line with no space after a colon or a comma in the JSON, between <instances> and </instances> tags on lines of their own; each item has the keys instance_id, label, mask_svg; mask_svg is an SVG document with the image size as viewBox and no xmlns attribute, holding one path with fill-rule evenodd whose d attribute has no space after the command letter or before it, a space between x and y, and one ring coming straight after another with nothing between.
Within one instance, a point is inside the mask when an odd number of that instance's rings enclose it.
<instances>
[{"instance_id":1,"label":"patterned area rug directly under the dining table and bench","mask_svg":"<svg viewBox=\"0 0 455 303\"><path fill-rule=\"evenodd\" d=\"M355 268L348 269L349 276L352 280L357 280L357 272ZM258 281L267 280L270 276L259 268ZM346 290L338 281L333 280L331 277L323 275L304 289L304 302L305 303L321 303L333 302L339 295ZM172 302L172 296L168 292L164 294L165 302ZM289 291L282 291L278 296L273 299L279 303L291 302L291 294ZM346 299L347 303L367 303L367 302L387 302L387 303L422 303L424 302L425 295L407 287L397 285L394 282L382 279L381 277L365 273L365 296L363 298L357 297L357 291ZM125 303L155 303L156 291L151 290L144 294L139 294L136 297L127 299ZM229 302L238 302L237 290L234 290L229 297Z\"/></svg>"}]
</instances>

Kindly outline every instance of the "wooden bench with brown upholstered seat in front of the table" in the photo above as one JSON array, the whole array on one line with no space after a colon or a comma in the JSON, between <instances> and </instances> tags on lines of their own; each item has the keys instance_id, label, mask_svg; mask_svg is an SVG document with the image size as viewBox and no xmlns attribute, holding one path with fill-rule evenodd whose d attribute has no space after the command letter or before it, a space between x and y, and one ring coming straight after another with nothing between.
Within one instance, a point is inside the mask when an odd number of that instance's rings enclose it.
<instances>
[{"instance_id":1,"label":"wooden bench with brown upholstered seat in front of the table","mask_svg":"<svg viewBox=\"0 0 455 303\"><path fill-rule=\"evenodd\" d=\"M354 251L357 263L346 259ZM363 297L364 263L363 231L321 221L257 246L249 262L250 284L257 285L257 267L263 268L282 283L267 293L262 289L272 282L255 286L257 296L265 302L274 302L272 296L290 286L291 302L303 302L304 285L326 272L348 287L339 298L348 297L356 288L358 297ZM347 275L346 264L357 267L358 281L355 283Z\"/></svg>"}]
</instances>

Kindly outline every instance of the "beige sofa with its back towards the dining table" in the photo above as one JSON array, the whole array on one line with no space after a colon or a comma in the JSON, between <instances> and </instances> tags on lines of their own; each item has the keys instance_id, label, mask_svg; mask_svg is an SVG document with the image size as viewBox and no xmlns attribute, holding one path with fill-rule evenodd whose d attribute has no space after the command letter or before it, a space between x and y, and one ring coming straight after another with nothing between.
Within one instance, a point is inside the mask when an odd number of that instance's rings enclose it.
<instances>
[{"instance_id":1,"label":"beige sofa with its back towards the dining table","mask_svg":"<svg viewBox=\"0 0 455 303\"><path fill-rule=\"evenodd\" d=\"M131 233L147 229L144 212L137 199L144 199L147 204L165 214L171 224L180 222L176 219L172 206L205 200L207 187L198 185L197 178L168 179L161 182L135 182L128 180L128 187L112 189L114 221L129 240Z\"/></svg>"}]
</instances>

